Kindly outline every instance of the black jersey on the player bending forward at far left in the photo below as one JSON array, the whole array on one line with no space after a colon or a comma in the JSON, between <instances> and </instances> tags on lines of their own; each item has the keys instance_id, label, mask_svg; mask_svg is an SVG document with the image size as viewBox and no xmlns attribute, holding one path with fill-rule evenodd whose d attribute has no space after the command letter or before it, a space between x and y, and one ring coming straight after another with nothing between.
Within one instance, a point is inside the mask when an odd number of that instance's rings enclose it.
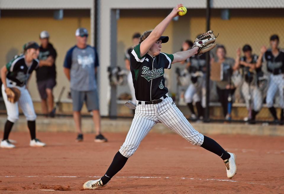
<instances>
[{"instance_id":1,"label":"black jersey on the player bending forward at far left","mask_svg":"<svg viewBox=\"0 0 284 194\"><path fill-rule=\"evenodd\" d=\"M38 68L39 61L34 59L30 66L25 63L25 55L15 56L6 67L8 70L7 78L17 84L24 86L33 70Z\"/></svg>"}]
</instances>

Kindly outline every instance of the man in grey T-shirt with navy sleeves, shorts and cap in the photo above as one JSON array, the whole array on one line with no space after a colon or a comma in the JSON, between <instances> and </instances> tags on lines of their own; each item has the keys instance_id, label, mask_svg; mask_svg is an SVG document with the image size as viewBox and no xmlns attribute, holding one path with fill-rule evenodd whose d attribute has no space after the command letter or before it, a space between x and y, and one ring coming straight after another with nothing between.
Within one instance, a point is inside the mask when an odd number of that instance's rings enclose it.
<instances>
[{"instance_id":1,"label":"man in grey T-shirt with navy sleeves, shorts and cap","mask_svg":"<svg viewBox=\"0 0 284 194\"><path fill-rule=\"evenodd\" d=\"M73 118L78 132L77 142L83 141L81 129L81 109L85 101L89 112L93 113L96 129L95 142L106 142L101 134L99 97L96 84L96 71L99 59L96 49L87 44L88 30L78 28L75 32L77 43L67 51L64 61L64 73L70 81L73 101Z\"/></svg>"}]
</instances>

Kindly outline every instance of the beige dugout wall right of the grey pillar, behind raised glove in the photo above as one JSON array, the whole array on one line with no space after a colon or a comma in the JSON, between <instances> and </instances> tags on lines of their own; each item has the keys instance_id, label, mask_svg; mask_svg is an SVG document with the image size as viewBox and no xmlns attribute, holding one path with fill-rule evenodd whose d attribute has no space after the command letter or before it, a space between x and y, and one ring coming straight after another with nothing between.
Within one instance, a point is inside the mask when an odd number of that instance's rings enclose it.
<instances>
[{"instance_id":1,"label":"beige dugout wall right of the grey pillar, behind raised glove","mask_svg":"<svg viewBox=\"0 0 284 194\"><path fill-rule=\"evenodd\" d=\"M204 31L206 20L204 15L193 11L190 18L192 40ZM217 44L223 44L227 49L227 56L235 58L238 47L250 44L255 54L260 53L262 45L269 47L269 38L272 34L280 37L280 48L284 48L284 15L278 9L241 9L230 10L230 20L220 18L220 10L214 10L211 18L211 29L214 30Z\"/></svg>"}]
</instances>

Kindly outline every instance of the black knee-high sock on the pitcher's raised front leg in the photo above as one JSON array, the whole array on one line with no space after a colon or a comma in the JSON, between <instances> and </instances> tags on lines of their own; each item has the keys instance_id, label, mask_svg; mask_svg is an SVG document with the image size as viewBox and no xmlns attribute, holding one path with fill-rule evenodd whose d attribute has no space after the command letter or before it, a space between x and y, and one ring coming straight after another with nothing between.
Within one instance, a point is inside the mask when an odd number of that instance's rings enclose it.
<instances>
[{"instance_id":1,"label":"black knee-high sock on the pitcher's raised front leg","mask_svg":"<svg viewBox=\"0 0 284 194\"><path fill-rule=\"evenodd\" d=\"M219 155L222 160L230 158L230 154L227 153L221 145L219 145L215 140L212 140L210 137L204 135L204 141L201 145L204 149L213 152L214 154Z\"/></svg>"}]
</instances>

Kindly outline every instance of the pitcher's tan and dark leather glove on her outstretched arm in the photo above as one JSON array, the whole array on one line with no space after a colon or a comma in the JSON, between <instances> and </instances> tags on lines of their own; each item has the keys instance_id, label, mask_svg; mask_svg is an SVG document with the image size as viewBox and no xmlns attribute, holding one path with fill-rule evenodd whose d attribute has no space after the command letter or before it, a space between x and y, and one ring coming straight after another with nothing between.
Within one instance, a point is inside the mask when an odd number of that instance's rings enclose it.
<instances>
[{"instance_id":1,"label":"pitcher's tan and dark leather glove on her outstretched arm","mask_svg":"<svg viewBox=\"0 0 284 194\"><path fill-rule=\"evenodd\" d=\"M207 51L210 51L214 47L216 47L215 40L217 36L214 35L212 30L197 36L194 41L192 48L199 47L197 51L197 55L203 54Z\"/></svg>"}]
</instances>

